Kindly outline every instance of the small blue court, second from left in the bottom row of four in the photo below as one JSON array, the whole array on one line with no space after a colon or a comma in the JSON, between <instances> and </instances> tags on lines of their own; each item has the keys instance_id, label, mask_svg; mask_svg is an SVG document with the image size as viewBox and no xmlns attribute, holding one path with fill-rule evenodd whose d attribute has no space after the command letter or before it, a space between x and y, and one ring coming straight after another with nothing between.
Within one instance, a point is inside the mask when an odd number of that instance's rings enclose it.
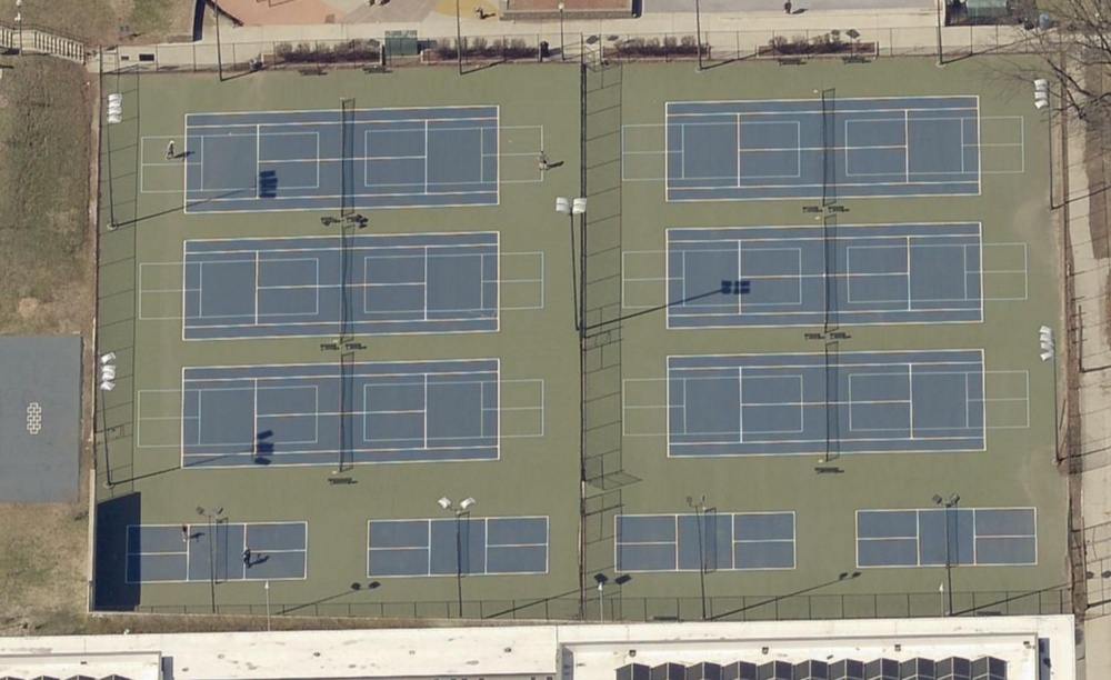
<instances>
[{"instance_id":1,"label":"small blue court, second from left in the bottom row of four","mask_svg":"<svg viewBox=\"0 0 1111 680\"><path fill-rule=\"evenodd\" d=\"M454 519L372 520L367 576L548 573L548 518L464 516L459 548Z\"/></svg>"}]
</instances>

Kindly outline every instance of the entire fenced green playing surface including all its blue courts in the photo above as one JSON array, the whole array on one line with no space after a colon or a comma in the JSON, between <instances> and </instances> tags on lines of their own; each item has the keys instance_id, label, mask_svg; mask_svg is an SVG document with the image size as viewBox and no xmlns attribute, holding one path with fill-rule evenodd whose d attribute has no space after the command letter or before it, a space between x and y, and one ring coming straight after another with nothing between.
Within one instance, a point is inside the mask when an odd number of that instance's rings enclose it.
<instances>
[{"instance_id":1,"label":"entire fenced green playing surface including all its blue courts","mask_svg":"<svg viewBox=\"0 0 1111 680\"><path fill-rule=\"evenodd\" d=\"M951 581L954 613L1061 611L1045 121L992 73L106 76L97 607L901 617L948 611ZM759 120L669 124L747 100ZM851 113L883 102L899 124ZM763 198L805 158L824 186ZM684 181L715 200L669 201Z\"/></svg>"}]
</instances>

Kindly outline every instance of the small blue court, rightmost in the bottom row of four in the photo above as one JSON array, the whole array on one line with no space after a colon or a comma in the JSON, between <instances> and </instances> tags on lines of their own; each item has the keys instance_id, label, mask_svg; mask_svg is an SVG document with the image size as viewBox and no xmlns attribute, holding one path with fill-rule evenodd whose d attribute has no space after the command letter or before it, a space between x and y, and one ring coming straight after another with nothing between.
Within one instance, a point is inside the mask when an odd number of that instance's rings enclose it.
<instances>
[{"instance_id":1,"label":"small blue court, rightmost in the bottom row of four","mask_svg":"<svg viewBox=\"0 0 1111 680\"><path fill-rule=\"evenodd\" d=\"M961 567L1037 564L1035 516L1034 508L858 510L857 566L941 567L947 557Z\"/></svg>"}]
</instances>

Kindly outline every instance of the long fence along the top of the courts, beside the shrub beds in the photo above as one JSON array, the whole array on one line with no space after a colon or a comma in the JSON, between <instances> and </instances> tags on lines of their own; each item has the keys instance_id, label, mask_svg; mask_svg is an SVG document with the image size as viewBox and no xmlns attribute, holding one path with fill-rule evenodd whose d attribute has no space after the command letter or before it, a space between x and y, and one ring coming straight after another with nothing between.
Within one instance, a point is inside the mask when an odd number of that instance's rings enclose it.
<instances>
[{"instance_id":1,"label":"long fence along the top of the courts, beside the shrub beds","mask_svg":"<svg viewBox=\"0 0 1111 680\"><path fill-rule=\"evenodd\" d=\"M1028 53L1040 43L1029 31L1015 26L968 26L944 29L947 61L984 53ZM849 38L849 36L855 36ZM889 27L857 31L828 30L703 31L703 61L707 66L743 60L792 62L842 59L868 61L898 56L935 56L932 30L922 27ZM558 40L558 39L557 39ZM560 48L543 31L461 39L463 63L547 62L561 63ZM262 69L300 70L316 74L330 68L362 68L368 73L421 64L456 66L454 37L420 37L417 49L390 50L389 41L373 38L167 43L144 47L106 48L116 52L119 67L150 71L223 71L246 74ZM692 32L682 33L568 33L562 40L567 61L691 61L698 58ZM217 59L219 53L220 60ZM126 57L126 59L124 59Z\"/></svg>"}]
</instances>

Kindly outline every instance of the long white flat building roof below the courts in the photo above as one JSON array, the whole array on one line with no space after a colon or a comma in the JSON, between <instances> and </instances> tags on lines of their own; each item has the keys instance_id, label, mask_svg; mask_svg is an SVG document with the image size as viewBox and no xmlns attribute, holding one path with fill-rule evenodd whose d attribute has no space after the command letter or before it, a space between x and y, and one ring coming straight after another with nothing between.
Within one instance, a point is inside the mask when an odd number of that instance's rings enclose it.
<instances>
[{"instance_id":1,"label":"long white flat building roof below the courts","mask_svg":"<svg viewBox=\"0 0 1111 680\"><path fill-rule=\"evenodd\" d=\"M1054 616L14 638L0 639L0 676L615 680L631 664L993 657L1009 680L1073 680L1073 627Z\"/></svg>"}]
</instances>

